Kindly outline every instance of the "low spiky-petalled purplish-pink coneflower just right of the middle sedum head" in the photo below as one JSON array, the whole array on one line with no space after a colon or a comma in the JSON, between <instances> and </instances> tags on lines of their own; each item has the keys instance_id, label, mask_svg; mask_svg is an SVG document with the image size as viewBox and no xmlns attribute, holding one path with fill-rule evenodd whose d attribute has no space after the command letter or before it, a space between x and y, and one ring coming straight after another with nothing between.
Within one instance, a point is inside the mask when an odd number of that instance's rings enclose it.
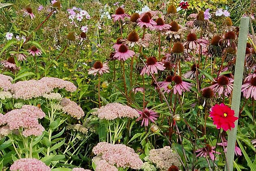
<instances>
[{"instance_id":1,"label":"low spiky-petalled purplish-pink coneflower just right of the middle sedum head","mask_svg":"<svg viewBox=\"0 0 256 171\"><path fill-rule=\"evenodd\" d=\"M154 120L157 120L158 117L158 115L156 115L156 112L154 112L153 110L148 110L148 108L145 108L144 111L138 110L138 113L140 117L136 119L136 121L140 121L142 119L141 126L143 126L143 123L144 126L148 126L149 121L155 123Z\"/></svg>"}]
</instances>

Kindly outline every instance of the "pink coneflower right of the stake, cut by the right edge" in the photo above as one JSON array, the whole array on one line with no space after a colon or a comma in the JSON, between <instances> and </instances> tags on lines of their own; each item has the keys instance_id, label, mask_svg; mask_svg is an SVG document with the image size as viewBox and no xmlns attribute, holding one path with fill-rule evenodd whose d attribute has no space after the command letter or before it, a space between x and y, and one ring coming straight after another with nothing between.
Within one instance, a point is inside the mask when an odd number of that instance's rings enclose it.
<instances>
[{"instance_id":1,"label":"pink coneflower right of the stake, cut by the right edge","mask_svg":"<svg viewBox=\"0 0 256 171\"><path fill-rule=\"evenodd\" d=\"M255 71L254 71L255 72ZM250 74L244 80L241 91L245 98L254 98L256 100L256 73Z\"/></svg>"}]
</instances>

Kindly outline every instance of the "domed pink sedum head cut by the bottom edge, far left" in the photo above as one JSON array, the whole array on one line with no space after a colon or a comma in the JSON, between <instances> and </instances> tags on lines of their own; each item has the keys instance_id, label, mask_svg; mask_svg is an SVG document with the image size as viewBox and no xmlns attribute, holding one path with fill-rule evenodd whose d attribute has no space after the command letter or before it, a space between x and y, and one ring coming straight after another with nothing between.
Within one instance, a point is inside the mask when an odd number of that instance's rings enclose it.
<instances>
[{"instance_id":1,"label":"domed pink sedum head cut by the bottom edge, far left","mask_svg":"<svg viewBox=\"0 0 256 171\"><path fill-rule=\"evenodd\" d=\"M35 158L21 158L10 167L10 171L51 171L50 167Z\"/></svg>"}]
</instances>

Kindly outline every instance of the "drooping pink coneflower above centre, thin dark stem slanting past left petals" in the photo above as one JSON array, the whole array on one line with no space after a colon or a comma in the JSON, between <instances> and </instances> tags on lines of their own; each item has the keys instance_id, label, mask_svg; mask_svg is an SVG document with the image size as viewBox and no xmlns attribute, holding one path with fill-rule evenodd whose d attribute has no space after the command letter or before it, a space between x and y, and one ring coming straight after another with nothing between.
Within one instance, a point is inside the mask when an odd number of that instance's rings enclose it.
<instances>
[{"instance_id":1,"label":"drooping pink coneflower above centre, thin dark stem slanting past left petals","mask_svg":"<svg viewBox=\"0 0 256 171\"><path fill-rule=\"evenodd\" d=\"M143 69L141 70L141 74L140 74L141 76L143 76L145 74L147 74L149 76L150 72L152 74L154 74L154 73L157 74L157 70L161 70L161 71L165 70L165 67L163 66L163 63L162 62L157 62L157 60L154 56L149 57L147 59L146 64L147 64L148 69L147 69L146 66L144 66Z\"/></svg>"}]
</instances>

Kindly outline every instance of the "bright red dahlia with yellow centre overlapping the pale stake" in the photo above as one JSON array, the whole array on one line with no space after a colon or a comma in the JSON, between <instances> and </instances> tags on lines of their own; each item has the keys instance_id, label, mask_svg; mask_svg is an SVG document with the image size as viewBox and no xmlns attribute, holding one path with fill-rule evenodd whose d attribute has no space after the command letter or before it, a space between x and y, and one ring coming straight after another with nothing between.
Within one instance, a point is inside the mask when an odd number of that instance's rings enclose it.
<instances>
[{"instance_id":1,"label":"bright red dahlia with yellow centre overlapping the pale stake","mask_svg":"<svg viewBox=\"0 0 256 171\"><path fill-rule=\"evenodd\" d=\"M209 117L213 119L213 124L217 126L217 129L222 128L224 131L234 128L234 121L238 119L234 116L234 110L223 103L215 104L209 113Z\"/></svg>"}]
</instances>

